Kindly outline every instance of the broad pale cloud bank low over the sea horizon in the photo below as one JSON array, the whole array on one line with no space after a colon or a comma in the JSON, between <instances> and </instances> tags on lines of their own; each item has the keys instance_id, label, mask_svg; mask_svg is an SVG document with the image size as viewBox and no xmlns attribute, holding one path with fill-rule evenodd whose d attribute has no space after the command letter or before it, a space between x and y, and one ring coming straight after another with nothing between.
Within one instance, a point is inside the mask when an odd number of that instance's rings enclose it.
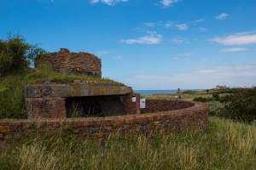
<instances>
[{"instance_id":1,"label":"broad pale cloud bank low over the sea horizon","mask_svg":"<svg viewBox=\"0 0 256 170\"><path fill-rule=\"evenodd\" d=\"M251 87L255 85L256 63L251 65L224 65L210 69L172 74L137 74L119 82L133 89L207 89L216 85Z\"/></svg>"}]
</instances>

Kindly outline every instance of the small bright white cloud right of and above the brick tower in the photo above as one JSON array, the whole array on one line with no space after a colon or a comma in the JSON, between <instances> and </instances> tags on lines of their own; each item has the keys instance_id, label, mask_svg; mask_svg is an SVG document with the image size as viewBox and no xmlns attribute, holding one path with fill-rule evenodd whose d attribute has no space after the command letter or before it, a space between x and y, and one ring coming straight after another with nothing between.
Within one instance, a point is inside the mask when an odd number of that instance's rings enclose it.
<instances>
[{"instance_id":1,"label":"small bright white cloud right of and above the brick tower","mask_svg":"<svg viewBox=\"0 0 256 170\"><path fill-rule=\"evenodd\" d=\"M160 34L157 34L155 31L147 31L149 36L145 37L138 37L137 39L126 39L121 40L120 42L125 43L145 43L145 44L154 44L154 43L160 43L162 36Z\"/></svg>"}]
</instances>

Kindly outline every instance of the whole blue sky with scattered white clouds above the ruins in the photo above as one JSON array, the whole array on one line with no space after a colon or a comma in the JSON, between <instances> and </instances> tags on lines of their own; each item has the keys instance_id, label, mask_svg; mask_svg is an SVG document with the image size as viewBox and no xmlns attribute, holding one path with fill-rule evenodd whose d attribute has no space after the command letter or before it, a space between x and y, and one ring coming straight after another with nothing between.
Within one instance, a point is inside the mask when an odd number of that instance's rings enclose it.
<instances>
[{"instance_id":1,"label":"whole blue sky with scattered white clouds above the ruins","mask_svg":"<svg viewBox=\"0 0 256 170\"><path fill-rule=\"evenodd\" d=\"M102 59L102 77L142 89L256 85L255 0L0 0L7 32L49 52Z\"/></svg>"}]
</instances>

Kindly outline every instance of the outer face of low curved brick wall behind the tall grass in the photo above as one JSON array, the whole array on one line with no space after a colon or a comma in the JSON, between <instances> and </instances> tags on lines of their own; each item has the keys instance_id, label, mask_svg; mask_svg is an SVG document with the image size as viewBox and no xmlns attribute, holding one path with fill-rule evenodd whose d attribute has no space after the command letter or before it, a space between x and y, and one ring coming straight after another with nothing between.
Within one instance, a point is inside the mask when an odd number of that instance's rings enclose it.
<instances>
[{"instance_id":1,"label":"outer face of low curved brick wall behind the tall grass","mask_svg":"<svg viewBox=\"0 0 256 170\"><path fill-rule=\"evenodd\" d=\"M191 102L194 106L160 113L104 118L0 120L0 144L4 139L21 133L55 133L85 138L105 139L109 135L154 135L177 133L184 129L204 131L208 125L208 105Z\"/></svg>"}]
</instances>

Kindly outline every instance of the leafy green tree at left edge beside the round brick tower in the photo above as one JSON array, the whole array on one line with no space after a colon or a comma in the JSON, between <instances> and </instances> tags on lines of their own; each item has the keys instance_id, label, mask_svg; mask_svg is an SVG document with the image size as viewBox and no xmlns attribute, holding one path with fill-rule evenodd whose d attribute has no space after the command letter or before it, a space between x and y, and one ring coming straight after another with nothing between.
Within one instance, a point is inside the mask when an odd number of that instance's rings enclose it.
<instances>
[{"instance_id":1,"label":"leafy green tree at left edge beside the round brick tower","mask_svg":"<svg viewBox=\"0 0 256 170\"><path fill-rule=\"evenodd\" d=\"M36 57L46 54L38 44L32 45L20 35L8 36L7 40L0 39L0 76L26 71Z\"/></svg>"}]
</instances>

